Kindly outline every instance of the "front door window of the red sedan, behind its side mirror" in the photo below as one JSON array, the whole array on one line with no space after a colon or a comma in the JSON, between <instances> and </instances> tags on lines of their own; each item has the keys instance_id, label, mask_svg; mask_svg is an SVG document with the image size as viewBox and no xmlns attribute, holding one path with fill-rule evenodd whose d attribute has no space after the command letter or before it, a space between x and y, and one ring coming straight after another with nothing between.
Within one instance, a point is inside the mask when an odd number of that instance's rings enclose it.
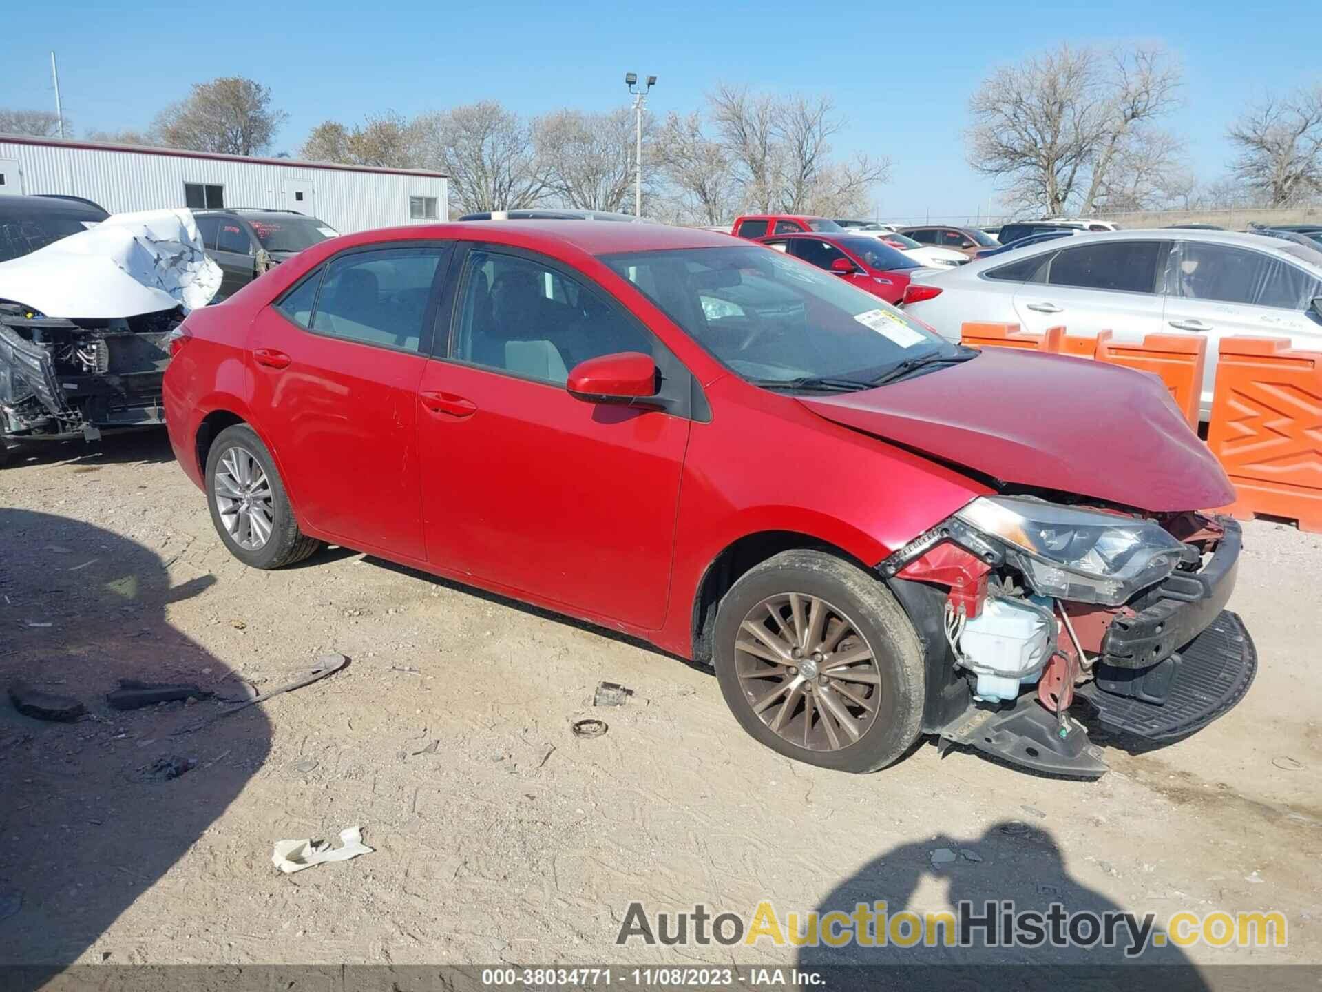
<instances>
[{"instance_id":1,"label":"front door window of the red sedan, behind its side mirror","mask_svg":"<svg viewBox=\"0 0 1322 992\"><path fill-rule=\"evenodd\" d=\"M530 258L472 251L463 286L452 356L459 361L563 386L588 358L658 357L652 335L617 307Z\"/></svg>"}]
</instances>

